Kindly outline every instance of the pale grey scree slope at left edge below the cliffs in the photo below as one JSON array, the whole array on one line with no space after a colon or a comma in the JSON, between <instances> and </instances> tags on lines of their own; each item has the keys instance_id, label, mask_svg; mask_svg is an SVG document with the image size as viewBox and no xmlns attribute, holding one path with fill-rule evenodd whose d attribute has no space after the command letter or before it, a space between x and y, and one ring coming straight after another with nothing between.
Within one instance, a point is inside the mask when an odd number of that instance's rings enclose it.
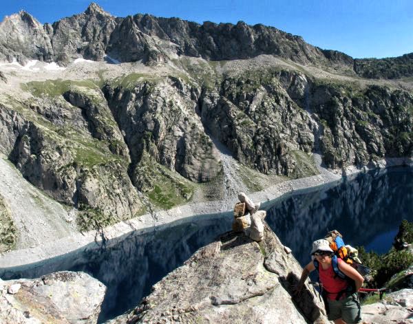
<instances>
[{"instance_id":1,"label":"pale grey scree slope at left edge below the cliffs","mask_svg":"<svg viewBox=\"0 0 413 324\"><path fill-rule=\"evenodd\" d=\"M10 162L0 158L0 195L18 230L16 249L38 246L78 233L70 213L35 188Z\"/></svg>"}]
</instances>

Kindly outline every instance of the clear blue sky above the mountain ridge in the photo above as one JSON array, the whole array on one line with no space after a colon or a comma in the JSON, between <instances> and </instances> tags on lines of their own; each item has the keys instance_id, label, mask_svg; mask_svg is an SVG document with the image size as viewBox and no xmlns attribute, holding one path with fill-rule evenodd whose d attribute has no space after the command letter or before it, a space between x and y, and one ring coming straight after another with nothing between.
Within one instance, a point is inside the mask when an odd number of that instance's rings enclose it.
<instances>
[{"instance_id":1,"label":"clear blue sky above the mountain ridge","mask_svg":"<svg viewBox=\"0 0 413 324\"><path fill-rule=\"evenodd\" d=\"M85 11L87 0L3 0L0 19L25 10L41 23ZM96 0L117 17L148 13L202 23L263 23L354 58L413 52L412 0Z\"/></svg>"}]
</instances>

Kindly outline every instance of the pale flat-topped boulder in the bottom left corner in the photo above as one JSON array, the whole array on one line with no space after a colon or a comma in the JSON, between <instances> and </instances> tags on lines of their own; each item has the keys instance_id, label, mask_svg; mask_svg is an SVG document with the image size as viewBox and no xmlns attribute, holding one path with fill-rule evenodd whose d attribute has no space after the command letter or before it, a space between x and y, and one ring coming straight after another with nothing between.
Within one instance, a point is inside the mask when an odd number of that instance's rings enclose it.
<instances>
[{"instance_id":1,"label":"pale flat-topped boulder in the bottom left corner","mask_svg":"<svg viewBox=\"0 0 413 324\"><path fill-rule=\"evenodd\" d=\"M83 272L0 280L0 322L97 323L105 285Z\"/></svg>"}]
</instances>

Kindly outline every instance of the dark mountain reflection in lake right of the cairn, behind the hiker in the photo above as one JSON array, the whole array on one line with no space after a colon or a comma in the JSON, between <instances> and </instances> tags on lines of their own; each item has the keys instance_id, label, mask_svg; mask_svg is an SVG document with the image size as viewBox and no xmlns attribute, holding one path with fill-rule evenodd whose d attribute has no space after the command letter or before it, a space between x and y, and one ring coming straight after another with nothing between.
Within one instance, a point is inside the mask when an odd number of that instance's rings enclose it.
<instances>
[{"instance_id":1,"label":"dark mountain reflection in lake right of the cairn, behind the hiker","mask_svg":"<svg viewBox=\"0 0 413 324\"><path fill-rule=\"evenodd\" d=\"M413 219L413 169L390 168L357 175L333 188L280 199L266 221L301 264L310 261L311 243L337 229L353 246Z\"/></svg>"}]
</instances>

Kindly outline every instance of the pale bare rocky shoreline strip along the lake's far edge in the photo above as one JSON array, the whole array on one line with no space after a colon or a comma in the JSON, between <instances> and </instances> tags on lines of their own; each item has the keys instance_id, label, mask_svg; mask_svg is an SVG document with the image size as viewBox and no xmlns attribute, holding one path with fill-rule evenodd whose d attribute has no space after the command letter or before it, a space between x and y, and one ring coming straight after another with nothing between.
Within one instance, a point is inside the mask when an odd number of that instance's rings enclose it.
<instances>
[{"instance_id":1,"label":"pale bare rocky shoreline strip along the lake's far edge","mask_svg":"<svg viewBox=\"0 0 413 324\"><path fill-rule=\"evenodd\" d=\"M316 160L317 159L316 156ZM370 169L384 169L390 166L403 165L413 166L413 159L390 158L382 160L379 165L372 166ZM297 193L297 191L315 190L323 185L334 186L341 181L341 174L346 175L346 177L349 178L354 177L357 173L366 172L368 170L369 168L367 167L364 167L363 169L350 167L345 170L329 171L328 169L319 166L319 175L281 182L275 186L266 188L264 191L251 193L249 196L253 201L261 202L262 206L265 206L266 203L282 197L284 194ZM41 246L14 250L3 254L0 257L0 268L20 268L29 265L30 263L63 256L66 253L75 252L82 248L87 248L88 250L101 248L102 240L106 242L112 239L117 239L135 230L153 230L160 226L167 226L171 223L179 224L180 222L187 222L189 219L194 219L194 217L214 217L214 215L216 217L219 213L225 213L232 210L235 200L236 197L233 197L232 199L226 199L220 202L202 202L198 204L177 206L170 210L161 210L153 214L145 214L125 222L119 222L118 224L105 228L102 232L91 230L87 233L76 233L56 241L46 242Z\"/></svg>"}]
</instances>

